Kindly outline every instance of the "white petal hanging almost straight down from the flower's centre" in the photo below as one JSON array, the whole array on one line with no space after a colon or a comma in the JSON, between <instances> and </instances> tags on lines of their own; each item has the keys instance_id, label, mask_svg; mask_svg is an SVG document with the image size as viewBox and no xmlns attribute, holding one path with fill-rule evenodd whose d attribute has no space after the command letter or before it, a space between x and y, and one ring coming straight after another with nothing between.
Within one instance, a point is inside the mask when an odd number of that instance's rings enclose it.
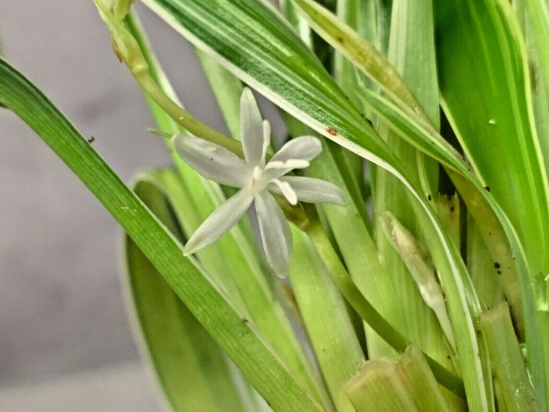
<instances>
[{"instance_id":1,"label":"white petal hanging almost straight down from the flower's centre","mask_svg":"<svg viewBox=\"0 0 549 412\"><path fill-rule=\"evenodd\" d=\"M267 263L279 277L286 277L293 247L290 225L268 191L257 194L254 204Z\"/></svg>"}]
</instances>

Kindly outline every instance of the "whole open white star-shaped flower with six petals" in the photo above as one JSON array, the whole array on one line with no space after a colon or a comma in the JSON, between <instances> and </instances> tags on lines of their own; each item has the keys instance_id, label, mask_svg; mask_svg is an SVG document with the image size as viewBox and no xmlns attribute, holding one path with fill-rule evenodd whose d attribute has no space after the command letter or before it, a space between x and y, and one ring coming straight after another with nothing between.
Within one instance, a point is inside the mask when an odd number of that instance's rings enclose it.
<instances>
[{"instance_id":1,"label":"whole open white star-shaped flower with six petals","mask_svg":"<svg viewBox=\"0 0 549 412\"><path fill-rule=\"evenodd\" d=\"M266 260L277 275L285 277L292 252L292 232L271 193L284 196L290 205L297 205L299 200L344 205L342 190L324 180L283 176L292 169L308 167L310 160L322 151L322 144L317 138L294 138L267 162L270 124L261 119L249 88L245 88L242 93L240 111L245 159L201 138L183 134L172 138L178 155L203 177L221 185L241 188L198 227L187 241L184 251L187 255L193 254L216 241L254 203Z\"/></svg>"}]
</instances>

